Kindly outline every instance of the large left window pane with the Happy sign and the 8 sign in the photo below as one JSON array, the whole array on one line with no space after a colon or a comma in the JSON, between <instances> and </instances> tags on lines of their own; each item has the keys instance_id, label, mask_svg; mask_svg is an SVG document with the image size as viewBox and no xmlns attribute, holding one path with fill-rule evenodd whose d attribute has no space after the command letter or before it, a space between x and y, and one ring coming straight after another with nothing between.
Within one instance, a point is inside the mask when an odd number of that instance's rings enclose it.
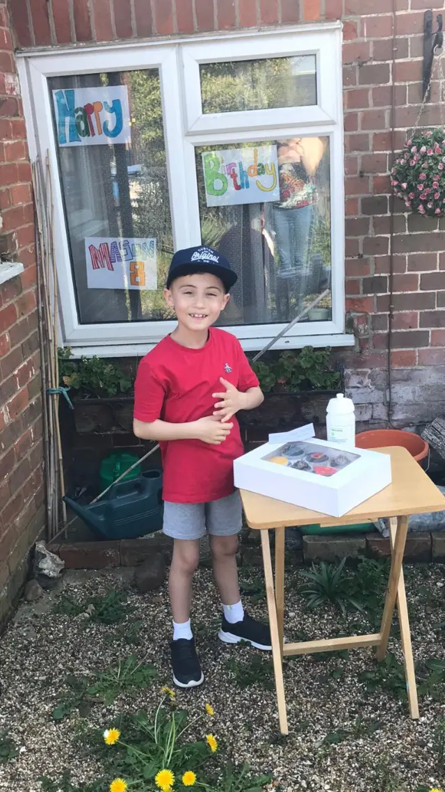
<instances>
[{"instance_id":1,"label":"large left window pane with the Happy sign and the 8 sign","mask_svg":"<svg viewBox=\"0 0 445 792\"><path fill-rule=\"evenodd\" d=\"M173 253L158 69L48 80L82 323L170 318Z\"/></svg>"}]
</instances>

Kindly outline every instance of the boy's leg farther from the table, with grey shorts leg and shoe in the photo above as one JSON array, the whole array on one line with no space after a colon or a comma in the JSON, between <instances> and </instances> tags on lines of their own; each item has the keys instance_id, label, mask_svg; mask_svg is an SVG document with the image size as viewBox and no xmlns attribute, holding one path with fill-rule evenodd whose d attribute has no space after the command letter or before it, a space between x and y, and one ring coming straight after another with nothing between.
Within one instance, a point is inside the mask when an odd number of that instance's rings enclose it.
<instances>
[{"instance_id":1,"label":"boy's leg farther from the table, with grey shorts leg and shoe","mask_svg":"<svg viewBox=\"0 0 445 792\"><path fill-rule=\"evenodd\" d=\"M173 681L179 687L196 687L203 672L196 655L190 625L192 578L200 560L200 536L205 532L203 504L164 503L164 533L173 537L169 596L173 615L171 657Z\"/></svg>"}]
</instances>

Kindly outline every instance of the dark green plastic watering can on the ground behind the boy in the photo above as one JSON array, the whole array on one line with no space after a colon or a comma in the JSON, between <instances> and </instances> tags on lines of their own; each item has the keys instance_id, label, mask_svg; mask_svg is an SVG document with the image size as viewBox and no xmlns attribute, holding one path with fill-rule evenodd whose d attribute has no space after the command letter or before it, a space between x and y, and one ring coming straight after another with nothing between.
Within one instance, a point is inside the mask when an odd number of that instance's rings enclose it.
<instances>
[{"instance_id":1,"label":"dark green plastic watering can on the ground behind the boy","mask_svg":"<svg viewBox=\"0 0 445 792\"><path fill-rule=\"evenodd\" d=\"M162 528L162 470L119 482L90 506L63 500L99 539L136 539Z\"/></svg>"}]
</instances>

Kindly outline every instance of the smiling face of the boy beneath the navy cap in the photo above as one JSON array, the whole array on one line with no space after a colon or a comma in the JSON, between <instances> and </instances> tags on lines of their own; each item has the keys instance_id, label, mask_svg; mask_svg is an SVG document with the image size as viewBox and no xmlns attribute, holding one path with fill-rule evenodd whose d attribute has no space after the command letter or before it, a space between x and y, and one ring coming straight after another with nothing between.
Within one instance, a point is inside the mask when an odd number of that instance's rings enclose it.
<instances>
[{"instance_id":1,"label":"smiling face of the boy beneath the navy cap","mask_svg":"<svg viewBox=\"0 0 445 792\"><path fill-rule=\"evenodd\" d=\"M197 272L173 280L164 296L179 324L188 330L207 330L230 300L222 281L210 272Z\"/></svg>"}]
</instances>

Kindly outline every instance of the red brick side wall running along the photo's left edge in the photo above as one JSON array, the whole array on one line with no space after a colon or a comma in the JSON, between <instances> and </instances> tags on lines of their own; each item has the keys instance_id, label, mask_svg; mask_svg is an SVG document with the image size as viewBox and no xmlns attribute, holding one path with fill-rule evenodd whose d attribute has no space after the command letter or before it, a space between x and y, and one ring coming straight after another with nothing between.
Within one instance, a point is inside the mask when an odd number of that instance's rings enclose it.
<instances>
[{"instance_id":1,"label":"red brick side wall running along the photo's left edge","mask_svg":"<svg viewBox=\"0 0 445 792\"><path fill-rule=\"evenodd\" d=\"M13 58L0 0L0 257L21 261L0 286L0 629L44 527L39 335L31 169Z\"/></svg>"}]
</instances>

